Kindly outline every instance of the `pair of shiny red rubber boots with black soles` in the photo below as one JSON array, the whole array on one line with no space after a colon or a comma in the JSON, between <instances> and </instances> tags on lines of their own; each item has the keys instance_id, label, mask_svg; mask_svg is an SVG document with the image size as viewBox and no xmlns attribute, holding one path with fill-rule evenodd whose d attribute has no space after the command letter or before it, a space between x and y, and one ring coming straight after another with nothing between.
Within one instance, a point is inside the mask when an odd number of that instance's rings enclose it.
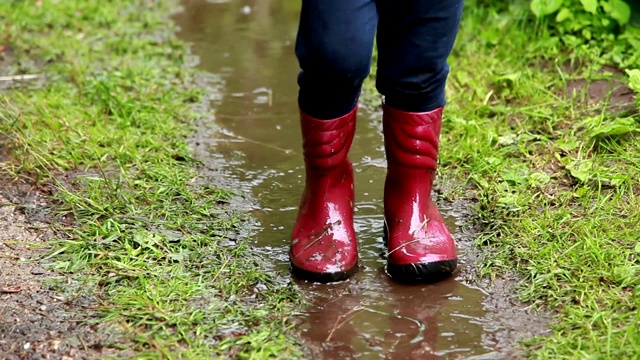
<instances>
[{"instance_id":1,"label":"pair of shiny red rubber boots with black soles","mask_svg":"<svg viewBox=\"0 0 640 360\"><path fill-rule=\"evenodd\" d=\"M436 281L457 265L455 243L431 200L441 124L442 108L409 113L384 106L386 270L404 282ZM347 156L356 109L332 120L302 113L301 128L306 182L292 235L292 269L311 281L342 281L358 268Z\"/></svg>"}]
</instances>

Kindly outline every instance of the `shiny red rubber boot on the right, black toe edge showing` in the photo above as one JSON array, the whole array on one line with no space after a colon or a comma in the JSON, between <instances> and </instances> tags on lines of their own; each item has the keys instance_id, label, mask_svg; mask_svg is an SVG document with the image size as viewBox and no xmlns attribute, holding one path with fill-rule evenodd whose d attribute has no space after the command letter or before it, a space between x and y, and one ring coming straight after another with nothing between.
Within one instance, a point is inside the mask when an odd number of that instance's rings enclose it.
<instances>
[{"instance_id":1,"label":"shiny red rubber boot on the right, black toe edge showing","mask_svg":"<svg viewBox=\"0 0 640 360\"><path fill-rule=\"evenodd\" d=\"M387 273L401 281L437 281L457 266L455 243L431 200L442 110L408 113L384 106Z\"/></svg>"}]
</instances>

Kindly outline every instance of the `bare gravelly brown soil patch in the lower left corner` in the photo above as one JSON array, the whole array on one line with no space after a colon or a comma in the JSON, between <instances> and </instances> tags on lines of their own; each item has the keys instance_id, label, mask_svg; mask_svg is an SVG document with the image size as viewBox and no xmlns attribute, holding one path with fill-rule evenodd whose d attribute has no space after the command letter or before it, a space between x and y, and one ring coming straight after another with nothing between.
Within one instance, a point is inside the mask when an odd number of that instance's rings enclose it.
<instances>
[{"instance_id":1,"label":"bare gravelly brown soil patch in the lower left corner","mask_svg":"<svg viewBox=\"0 0 640 360\"><path fill-rule=\"evenodd\" d=\"M47 269L55 234L43 192L7 179L0 184L0 359L126 355L120 336L97 322L98 297Z\"/></svg>"}]
</instances>

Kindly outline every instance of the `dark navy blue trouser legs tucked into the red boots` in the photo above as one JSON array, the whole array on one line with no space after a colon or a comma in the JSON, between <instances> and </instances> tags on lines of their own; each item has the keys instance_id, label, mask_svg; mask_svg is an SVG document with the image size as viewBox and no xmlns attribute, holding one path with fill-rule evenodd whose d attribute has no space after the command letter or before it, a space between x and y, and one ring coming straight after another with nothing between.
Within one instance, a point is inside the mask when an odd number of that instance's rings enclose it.
<instances>
[{"instance_id":1,"label":"dark navy blue trouser legs tucked into the red boots","mask_svg":"<svg viewBox=\"0 0 640 360\"><path fill-rule=\"evenodd\" d=\"M463 0L302 0L300 109L317 119L352 110L369 74L374 36L376 87L385 103L407 112L443 106L462 7Z\"/></svg>"}]
</instances>

